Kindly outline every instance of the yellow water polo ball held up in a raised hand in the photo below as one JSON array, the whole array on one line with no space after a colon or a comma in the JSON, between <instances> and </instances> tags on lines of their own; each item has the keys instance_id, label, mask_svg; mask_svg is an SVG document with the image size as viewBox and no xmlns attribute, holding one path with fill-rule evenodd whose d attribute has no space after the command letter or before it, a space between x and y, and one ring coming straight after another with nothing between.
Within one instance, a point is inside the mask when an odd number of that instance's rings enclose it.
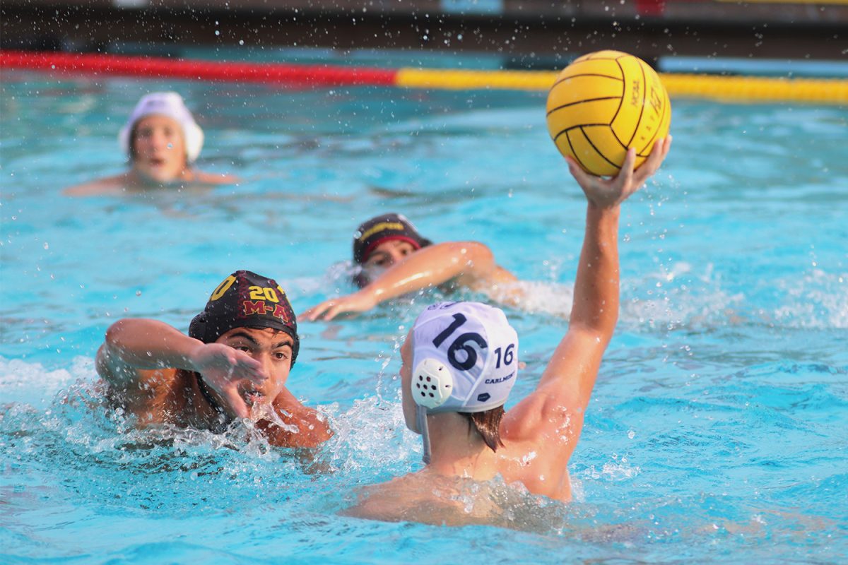
<instances>
[{"instance_id":1,"label":"yellow water polo ball held up in a raised hand","mask_svg":"<svg viewBox=\"0 0 848 565\"><path fill-rule=\"evenodd\" d=\"M636 167L668 135L672 105L642 59L598 51L575 59L548 93L548 131L556 148L591 174L614 176L636 148Z\"/></svg>"}]
</instances>

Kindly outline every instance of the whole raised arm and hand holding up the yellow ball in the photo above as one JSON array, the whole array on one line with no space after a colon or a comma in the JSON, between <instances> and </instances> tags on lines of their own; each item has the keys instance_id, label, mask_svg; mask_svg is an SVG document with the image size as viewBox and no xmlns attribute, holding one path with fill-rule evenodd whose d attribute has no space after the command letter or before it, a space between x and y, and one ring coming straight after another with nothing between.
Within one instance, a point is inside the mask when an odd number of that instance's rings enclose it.
<instances>
[{"instance_id":1,"label":"whole raised arm and hand holding up the yellow ball","mask_svg":"<svg viewBox=\"0 0 848 565\"><path fill-rule=\"evenodd\" d=\"M568 331L544 369L536 391L510 410L514 431L538 434L538 426L556 425L561 418L571 418L568 421L572 427L579 429L601 357L618 320L620 204L656 173L670 144L671 137L656 141L650 157L635 171L636 152L631 149L614 179L586 174L567 159L569 171L588 200L572 314Z\"/></svg>"}]
</instances>

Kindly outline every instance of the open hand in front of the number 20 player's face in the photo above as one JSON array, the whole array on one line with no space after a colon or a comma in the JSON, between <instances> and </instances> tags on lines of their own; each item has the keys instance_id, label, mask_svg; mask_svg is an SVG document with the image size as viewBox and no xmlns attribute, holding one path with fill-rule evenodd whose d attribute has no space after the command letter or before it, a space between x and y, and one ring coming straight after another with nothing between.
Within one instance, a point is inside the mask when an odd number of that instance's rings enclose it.
<instances>
[{"instance_id":1,"label":"open hand in front of the number 20 player's face","mask_svg":"<svg viewBox=\"0 0 848 565\"><path fill-rule=\"evenodd\" d=\"M238 394L238 383L245 379L261 385L268 375L262 364L245 352L220 343L205 343L192 352L192 366L204 383L226 401L231 416L247 418L248 405Z\"/></svg>"}]
</instances>

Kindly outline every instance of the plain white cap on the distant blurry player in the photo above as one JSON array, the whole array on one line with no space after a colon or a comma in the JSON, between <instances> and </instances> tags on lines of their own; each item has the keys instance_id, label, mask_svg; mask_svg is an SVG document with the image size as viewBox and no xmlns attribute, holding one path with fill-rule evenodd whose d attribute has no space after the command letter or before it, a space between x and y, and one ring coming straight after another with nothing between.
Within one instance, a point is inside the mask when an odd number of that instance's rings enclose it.
<instances>
[{"instance_id":1,"label":"plain white cap on the distant blurry player","mask_svg":"<svg viewBox=\"0 0 848 565\"><path fill-rule=\"evenodd\" d=\"M132 114L130 114L130 119L126 121L126 125L121 128L118 134L121 150L133 162L135 162L139 152L139 136L145 133L143 128L139 126L145 125L142 124L142 120L151 116L160 116L172 120L170 124L178 128L184 146L181 148L184 152L184 155L181 155L185 158L184 164L190 164L197 160L200 150L204 147L204 132L194 121L192 113L186 108L182 97L176 92L151 92L138 101L136 108L133 108Z\"/></svg>"}]
</instances>

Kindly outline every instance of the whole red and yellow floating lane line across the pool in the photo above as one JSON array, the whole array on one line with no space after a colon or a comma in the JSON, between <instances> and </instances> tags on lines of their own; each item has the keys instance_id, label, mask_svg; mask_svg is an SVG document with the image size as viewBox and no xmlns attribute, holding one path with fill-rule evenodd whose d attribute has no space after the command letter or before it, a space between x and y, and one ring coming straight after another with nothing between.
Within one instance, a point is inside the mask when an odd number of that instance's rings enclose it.
<instances>
[{"instance_id":1,"label":"whole red and yellow floating lane line across the pool","mask_svg":"<svg viewBox=\"0 0 848 565\"><path fill-rule=\"evenodd\" d=\"M398 86L438 90L547 91L556 71L377 69L325 64L237 63L97 53L0 51L0 68L73 75L218 80L281 86ZM848 80L661 73L669 97L722 102L848 104Z\"/></svg>"}]
</instances>

